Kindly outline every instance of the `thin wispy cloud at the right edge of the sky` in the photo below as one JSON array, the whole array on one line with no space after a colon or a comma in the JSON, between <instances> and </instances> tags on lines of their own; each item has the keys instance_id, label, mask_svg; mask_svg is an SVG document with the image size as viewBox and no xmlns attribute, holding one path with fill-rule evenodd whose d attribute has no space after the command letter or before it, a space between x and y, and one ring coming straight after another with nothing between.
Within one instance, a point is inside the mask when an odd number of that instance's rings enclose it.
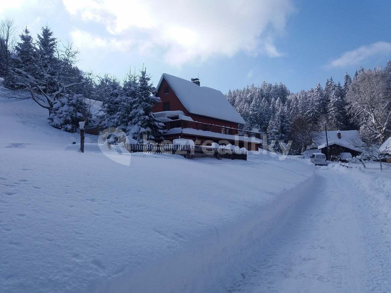
<instances>
[{"instance_id":1,"label":"thin wispy cloud at the right edge of the sky","mask_svg":"<svg viewBox=\"0 0 391 293\"><path fill-rule=\"evenodd\" d=\"M327 68L344 67L348 65L356 65L368 57L377 54L389 54L391 53L391 43L388 42L376 42L371 45L360 46L359 48L345 52L339 58L331 61L327 64Z\"/></svg>"}]
</instances>

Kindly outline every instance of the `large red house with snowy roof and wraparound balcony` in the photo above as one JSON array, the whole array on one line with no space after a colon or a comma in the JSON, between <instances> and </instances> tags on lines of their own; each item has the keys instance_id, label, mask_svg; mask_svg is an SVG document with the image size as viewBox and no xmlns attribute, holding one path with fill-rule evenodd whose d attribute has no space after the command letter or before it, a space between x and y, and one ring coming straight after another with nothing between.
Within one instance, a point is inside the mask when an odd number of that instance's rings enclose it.
<instances>
[{"instance_id":1,"label":"large red house with snowy roof and wraparound balcony","mask_svg":"<svg viewBox=\"0 0 391 293\"><path fill-rule=\"evenodd\" d=\"M185 80L163 73L156 87L161 102L153 107L155 117L166 126L163 139L192 139L196 144L237 145L258 150L260 134L240 130L246 122L217 89L199 85L198 79Z\"/></svg>"}]
</instances>

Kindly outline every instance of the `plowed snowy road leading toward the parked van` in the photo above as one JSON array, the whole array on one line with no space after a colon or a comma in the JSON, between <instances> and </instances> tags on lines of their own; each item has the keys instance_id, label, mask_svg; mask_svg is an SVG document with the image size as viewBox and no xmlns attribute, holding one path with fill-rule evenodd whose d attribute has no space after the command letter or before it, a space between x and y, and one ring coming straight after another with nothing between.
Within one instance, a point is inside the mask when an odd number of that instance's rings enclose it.
<instances>
[{"instance_id":1,"label":"plowed snowy road leading toward the parked van","mask_svg":"<svg viewBox=\"0 0 391 293\"><path fill-rule=\"evenodd\" d=\"M391 245L368 198L319 167L289 221L226 292L391 292Z\"/></svg>"}]
</instances>

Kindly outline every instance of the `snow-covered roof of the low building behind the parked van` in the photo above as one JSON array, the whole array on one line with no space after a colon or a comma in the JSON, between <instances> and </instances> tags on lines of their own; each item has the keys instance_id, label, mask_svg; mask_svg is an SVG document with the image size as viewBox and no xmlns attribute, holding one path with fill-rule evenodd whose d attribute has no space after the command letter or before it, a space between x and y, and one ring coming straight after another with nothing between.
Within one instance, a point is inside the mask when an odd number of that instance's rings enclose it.
<instances>
[{"instance_id":1,"label":"snow-covered roof of the low building behind the parked van","mask_svg":"<svg viewBox=\"0 0 391 293\"><path fill-rule=\"evenodd\" d=\"M338 138L338 132L341 133L341 138ZM337 130L337 131L327 131L328 144L330 141L337 141L349 145L350 147L363 147L360 139L360 134L357 130ZM354 143L353 143L354 142ZM354 145L352 145L352 143ZM316 138L316 141L310 146L310 148L316 148L319 145L326 144L326 133L325 131L319 132L319 137ZM358 145L356 145L358 144Z\"/></svg>"}]
</instances>

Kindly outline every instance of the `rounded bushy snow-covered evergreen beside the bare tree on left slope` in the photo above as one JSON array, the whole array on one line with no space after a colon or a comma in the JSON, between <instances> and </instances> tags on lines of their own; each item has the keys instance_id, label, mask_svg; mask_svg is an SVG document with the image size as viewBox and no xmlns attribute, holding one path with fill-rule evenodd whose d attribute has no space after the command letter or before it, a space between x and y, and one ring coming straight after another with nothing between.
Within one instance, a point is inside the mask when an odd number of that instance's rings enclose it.
<instances>
[{"instance_id":1,"label":"rounded bushy snow-covered evergreen beside the bare tree on left slope","mask_svg":"<svg viewBox=\"0 0 391 293\"><path fill-rule=\"evenodd\" d=\"M88 125L91 113L85 100L81 94L68 95L66 101L61 101L61 107L54 110L48 118L50 125L68 132L74 132L81 121L86 121Z\"/></svg>"}]
</instances>

